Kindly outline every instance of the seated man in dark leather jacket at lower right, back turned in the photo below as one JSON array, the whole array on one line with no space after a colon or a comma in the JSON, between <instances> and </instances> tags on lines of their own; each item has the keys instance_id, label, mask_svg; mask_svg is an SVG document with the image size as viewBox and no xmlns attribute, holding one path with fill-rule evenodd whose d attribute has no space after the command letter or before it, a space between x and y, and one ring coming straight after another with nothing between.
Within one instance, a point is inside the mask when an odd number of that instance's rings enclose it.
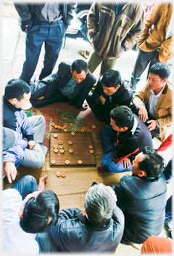
<instances>
[{"instance_id":1,"label":"seated man in dark leather jacket at lower right, back turned","mask_svg":"<svg viewBox=\"0 0 174 256\"><path fill-rule=\"evenodd\" d=\"M112 185L117 206L125 215L122 244L143 244L149 236L158 236L165 223L167 185L162 156L148 146L133 160L132 175Z\"/></svg>"}]
</instances>

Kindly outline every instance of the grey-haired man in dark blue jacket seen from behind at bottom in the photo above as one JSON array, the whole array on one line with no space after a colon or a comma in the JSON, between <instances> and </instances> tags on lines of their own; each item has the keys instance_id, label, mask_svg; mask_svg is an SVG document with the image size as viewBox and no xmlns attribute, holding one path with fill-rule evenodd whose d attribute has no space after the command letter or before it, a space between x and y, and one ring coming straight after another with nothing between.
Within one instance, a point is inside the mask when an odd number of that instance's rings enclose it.
<instances>
[{"instance_id":1,"label":"grey-haired man in dark blue jacket seen from behind at bottom","mask_svg":"<svg viewBox=\"0 0 174 256\"><path fill-rule=\"evenodd\" d=\"M98 183L88 189L85 209L59 211L49 233L36 235L40 252L115 252L123 236L124 215L112 188Z\"/></svg>"}]
</instances>

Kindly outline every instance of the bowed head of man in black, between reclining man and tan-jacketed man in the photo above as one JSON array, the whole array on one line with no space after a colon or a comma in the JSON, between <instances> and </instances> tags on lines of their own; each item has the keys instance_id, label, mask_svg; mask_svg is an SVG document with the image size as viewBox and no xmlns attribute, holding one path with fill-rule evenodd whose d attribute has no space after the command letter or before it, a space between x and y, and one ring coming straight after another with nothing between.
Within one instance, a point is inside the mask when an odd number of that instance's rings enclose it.
<instances>
[{"instance_id":1,"label":"bowed head of man in black, between reclining man and tan-jacketed man","mask_svg":"<svg viewBox=\"0 0 174 256\"><path fill-rule=\"evenodd\" d=\"M121 76L118 71L110 69L104 73L104 76L101 79L102 88L105 95L114 94L117 89L120 88Z\"/></svg>"}]
</instances>

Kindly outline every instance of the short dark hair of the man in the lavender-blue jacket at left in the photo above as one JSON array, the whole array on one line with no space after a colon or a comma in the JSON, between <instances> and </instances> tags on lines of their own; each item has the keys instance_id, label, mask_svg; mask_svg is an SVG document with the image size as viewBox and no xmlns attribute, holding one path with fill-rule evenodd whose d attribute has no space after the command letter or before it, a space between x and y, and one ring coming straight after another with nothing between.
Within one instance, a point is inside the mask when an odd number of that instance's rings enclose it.
<instances>
[{"instance_id":1,"label":"short dark hair of the man in the lavender-blue jacket at left","mask_svg":"<svg viewBox=\"0 0 174 256\"><path fill-rule=\"evenodd\" d=\"M7 100L16 98L18 101L22 100L25 93L30 92L29 85L21 79L12 79L8 81L5 87L4 97Z\"/></svg>"}]
</instances>

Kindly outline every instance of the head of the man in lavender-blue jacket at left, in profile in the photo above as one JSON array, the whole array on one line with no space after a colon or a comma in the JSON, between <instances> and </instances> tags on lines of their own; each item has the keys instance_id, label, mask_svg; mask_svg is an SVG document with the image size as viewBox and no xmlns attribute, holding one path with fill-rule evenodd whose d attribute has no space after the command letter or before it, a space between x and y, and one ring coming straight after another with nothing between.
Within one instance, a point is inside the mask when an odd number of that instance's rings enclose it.
<instances>
[{"instance_id":1,"label":"head of the man in lavender-blue jacket at left, in profile","mask_svg":"<svg viewBox=\"0 0 174 256\"><path fill-rule=\"evenodd\" d=\"M4 97L17 108L24 108L30 101L30 87L21 79L8 81Z\"/></svg>"}]
</instances>

